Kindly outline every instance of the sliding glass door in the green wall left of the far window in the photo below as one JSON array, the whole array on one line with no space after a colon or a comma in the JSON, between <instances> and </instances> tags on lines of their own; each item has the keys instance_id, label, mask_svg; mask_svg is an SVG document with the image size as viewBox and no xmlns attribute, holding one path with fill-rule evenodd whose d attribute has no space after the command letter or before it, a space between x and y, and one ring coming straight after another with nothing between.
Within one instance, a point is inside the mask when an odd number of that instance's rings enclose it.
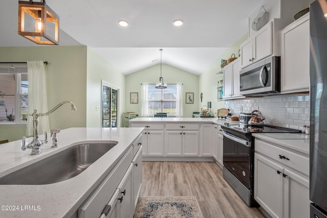
<instances>
[{"instance_id":1,"label":"sliding glass door in the green wall left of the far window","mask_svg":"<svg viewBox=\"0 0 327 218\"><path fill-rule=\"evenodd\" d=\"M119 89L102 82L102 127L118 126Z\"/></svg>"}]
</instances>

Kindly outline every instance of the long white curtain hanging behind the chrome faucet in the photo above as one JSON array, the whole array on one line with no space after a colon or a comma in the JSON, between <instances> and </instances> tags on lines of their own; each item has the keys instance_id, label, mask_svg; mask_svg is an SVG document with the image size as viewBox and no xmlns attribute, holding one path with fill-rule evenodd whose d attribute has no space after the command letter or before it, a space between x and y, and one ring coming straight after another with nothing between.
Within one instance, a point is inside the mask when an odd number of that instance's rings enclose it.
<instances>
[{"instance_id":1,"label":"long white curtain hanging behind the chrome faucet","mask_svg":"<svg viewBox=\"0 0 327 218\"><path fill-rule=\"evenodd\" d=\"M32 114L34 109L38 113L48 112L48 99L46 95L46 75L45 64L43 61L28 61L28 114ZM40 116L39 122L39 134L43 134L45 131L50 131L48 116ZM26 135L33 135L33 118L28 116Z\"/></svg>"}]
</instances>

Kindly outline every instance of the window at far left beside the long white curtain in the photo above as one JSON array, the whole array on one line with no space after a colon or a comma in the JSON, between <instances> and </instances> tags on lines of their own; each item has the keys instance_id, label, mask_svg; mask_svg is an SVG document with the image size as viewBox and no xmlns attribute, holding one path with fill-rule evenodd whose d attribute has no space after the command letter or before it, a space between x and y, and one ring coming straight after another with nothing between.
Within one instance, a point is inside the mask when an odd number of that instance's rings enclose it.
<instances>
[{"instance_id":1,"label":"window at far left beside the long white curtain","mask_svg":"<svg viewBox=\"0 0 327 218\"><path fill-rule=\"evenodd\" d=\"M1 64L0 124L25 124L27 105L27 64Z\"/></svg>"}]
</instances>

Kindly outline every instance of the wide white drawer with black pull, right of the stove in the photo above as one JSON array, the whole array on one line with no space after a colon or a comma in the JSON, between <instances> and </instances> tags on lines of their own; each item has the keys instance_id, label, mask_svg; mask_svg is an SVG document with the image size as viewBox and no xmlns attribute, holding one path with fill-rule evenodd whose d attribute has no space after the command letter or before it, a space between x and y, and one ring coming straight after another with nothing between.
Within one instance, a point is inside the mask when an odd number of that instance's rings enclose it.
<instances>
[{"instance_id":1,"label":"wide white drawer with black pull, right of the stove","mask_svg":"<svg viewBox=\"0 0 327 218\"><path fill-rule=\"evenodd\" d=\"M293 168L309 176L309 157L274 146L256 138L254 146L255 152L263 154L278 163L282 163L285 167Z\"/></svg>"}]
</instances>

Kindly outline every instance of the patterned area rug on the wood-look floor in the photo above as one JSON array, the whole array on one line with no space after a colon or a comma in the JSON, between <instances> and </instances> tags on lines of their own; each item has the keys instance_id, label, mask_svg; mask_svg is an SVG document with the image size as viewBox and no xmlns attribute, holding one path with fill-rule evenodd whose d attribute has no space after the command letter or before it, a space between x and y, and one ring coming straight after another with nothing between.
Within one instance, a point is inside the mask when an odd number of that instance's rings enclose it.
<instances>
[{"instance_id":1,"label":"patterned area rug on the wood-look floor","mask_svg":"<svg viewBox=\"0 0 327 218\"><path fill-rule=\"evenodd\" d=\"M139 197L134 218L203 218L195 197Z\"/></svg>"}]
</instances>

